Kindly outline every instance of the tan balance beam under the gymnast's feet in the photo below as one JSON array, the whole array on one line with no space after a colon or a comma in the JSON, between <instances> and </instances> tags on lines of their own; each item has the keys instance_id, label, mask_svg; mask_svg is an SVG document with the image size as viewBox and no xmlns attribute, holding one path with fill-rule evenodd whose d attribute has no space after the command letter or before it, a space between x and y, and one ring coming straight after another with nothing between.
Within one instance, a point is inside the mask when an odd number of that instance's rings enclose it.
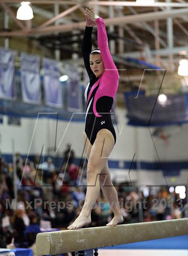
<instances>
[{"instance_id":1,"label":"tan balance beam under the gymnast's feet","mask_svg":"<svg viewBox=\"0 0 188 256\"><path fill-rule=\"evenodd\" d=\"M188 218L37 234L38 255L56 255L188 234Z\"/></svg>"}]
</instances>

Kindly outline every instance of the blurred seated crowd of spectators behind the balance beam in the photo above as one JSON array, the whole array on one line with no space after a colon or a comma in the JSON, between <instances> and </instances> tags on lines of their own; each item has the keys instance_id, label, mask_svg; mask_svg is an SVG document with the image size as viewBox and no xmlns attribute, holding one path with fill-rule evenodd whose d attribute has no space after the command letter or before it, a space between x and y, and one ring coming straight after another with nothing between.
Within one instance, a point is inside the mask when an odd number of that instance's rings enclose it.
<instances>
[{"instance_id":1,"label":"blurred seated crowd of spectators behind the balance beam","mask_svg":"<svg viewBox=\"0 0 188 256\"><path fill-rule=\"evenodd\" d=\"M60 168L56 168L51 157L39 164L37 157L26 161L17 154L17 202L13 200L13 164L0 158L0 247L33 247L39 232L66 229L79 216L86 193L87 165L77 166L74 152L69 149L68 145ZM113 184L124 216L122 224L139 222L139 207L143 221L184 217L179 195L169 193L168 188L160 188L156 193L150 189L146 197L129 182L113 181ZM173 203L169 203L172 200ZM141 203L143 201L145 204ZM106 225L112 218L110 204L101 192L91 213L92 222L87 227Z\"/></svg>"}]
</instances>

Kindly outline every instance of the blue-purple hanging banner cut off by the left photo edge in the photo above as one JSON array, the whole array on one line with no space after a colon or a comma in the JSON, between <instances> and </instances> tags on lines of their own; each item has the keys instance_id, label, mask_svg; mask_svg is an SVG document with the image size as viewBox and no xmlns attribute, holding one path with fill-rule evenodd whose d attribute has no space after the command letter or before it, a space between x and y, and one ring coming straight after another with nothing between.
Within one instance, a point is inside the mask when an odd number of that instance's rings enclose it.
<instances>
[{"instance_id":1,"label":"blue-purple hanging banner cut off by the left photo edge","mask_svg":"<svg viewBox=\"0 0 188 256\"><path fill-rule=\"evenodd\" d=\"M0 98L16 99L13 51L0 48Z\"/></svg>"}]
</instances>

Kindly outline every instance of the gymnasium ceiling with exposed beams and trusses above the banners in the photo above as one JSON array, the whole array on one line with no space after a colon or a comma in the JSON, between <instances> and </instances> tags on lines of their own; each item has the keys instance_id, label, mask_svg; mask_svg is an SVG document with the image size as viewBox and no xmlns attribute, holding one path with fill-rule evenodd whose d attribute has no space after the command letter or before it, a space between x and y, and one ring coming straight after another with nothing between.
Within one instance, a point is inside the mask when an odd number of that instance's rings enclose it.
<instances>
[{"instance_id":1,"label":"gymnasium ceiling with exposed beams and trusses above the banners","mask_svg":"<svg viewBox=\"0 0 188 256\"><path fill-rule=\"evenodd\" d=\"M150 7L135 6L136 1L129 0L30 0L34 18L27 22L15 18L20 2L0 0L0 46L9 44L17 51L83 66L84 9L91 6L105 20L117 67L129 69L136 87L144 66L126 58L142 59L177 72L179 60L188 57L188 0L160 0L161 4L155 0ZM93 42L96 47L96 30ZM127 76L122 76L120 92L128 86Z\"/></svg>"}]
</instances>

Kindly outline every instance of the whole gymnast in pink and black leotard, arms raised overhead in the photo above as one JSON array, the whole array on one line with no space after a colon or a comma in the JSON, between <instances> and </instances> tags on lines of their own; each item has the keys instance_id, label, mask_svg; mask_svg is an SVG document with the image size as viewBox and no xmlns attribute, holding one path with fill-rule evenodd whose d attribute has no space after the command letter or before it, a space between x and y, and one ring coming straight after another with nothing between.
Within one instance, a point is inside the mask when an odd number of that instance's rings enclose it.
<instances>
[{"instance_id":1,"label":"whole gymnast in pink and black leotard, arms raised overhead","mask_svg":"<svg viewBox=\"0 0 188 256\"><path fill-rule=\"evenodd\" d=\"M68 226L79 229L91 222L91 210L101 189L111 205L114 218L107 226L122 223L117 191L111 182L108 157L116 142L111 121L111 108L118 89L119 73L111 57L103 18L85 9L86 26L82 40L82 55L90 82L85 89L85 153L87 164L87 191L80 215ZM97 25L98 47L91 51L91 34Z\"/></svg>"}]
</instances>

